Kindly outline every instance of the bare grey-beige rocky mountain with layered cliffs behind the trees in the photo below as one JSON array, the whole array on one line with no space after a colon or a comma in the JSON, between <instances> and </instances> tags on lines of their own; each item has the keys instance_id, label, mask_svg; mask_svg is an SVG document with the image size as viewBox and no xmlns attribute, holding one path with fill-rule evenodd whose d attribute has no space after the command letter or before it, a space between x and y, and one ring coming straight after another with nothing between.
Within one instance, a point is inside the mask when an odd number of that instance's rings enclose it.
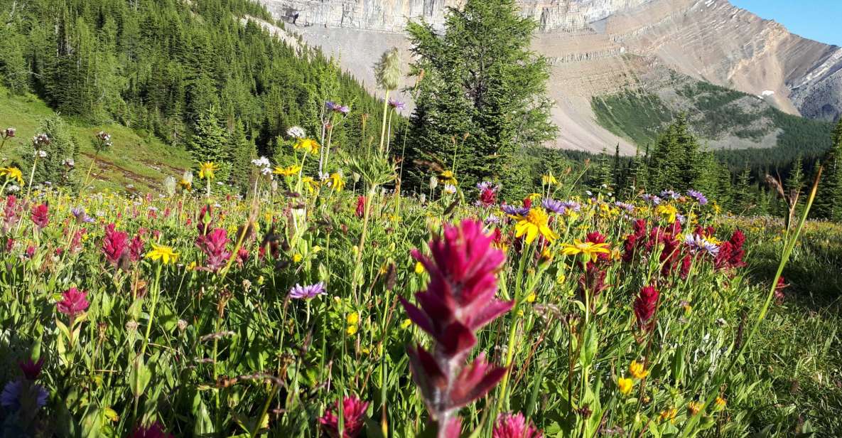
<instances>
[{"instance_id":1,"label":"bare grey-beige rocky mountain with layered cliffs behind the trees","mask_svg":"<svg viewBox=\"0 0 842 438\"><path fill-rule=\"evenodd\" d=\"M408 48L408 19L441 25L461 0L261 0L287 29L337 56L371 88L371 65L392 46ZM612 100L657 97L669 116L690 112L711 147L774 147L786 126L776 110L809 119L842 115L842 48L807 40L727 0L520 0L540 24L534 49L552 65L549 92L560 127L552 147L599 151L621 144L633 153L647 136L610 123ZM407 51L404 51L407 52ZM747 94L708 108L688 88ZM704 129L710 119L748 114L752 126ZM756 117L755 117L756 115ZM615 120L616 121L616 120ZM628 120L626 120L628 121ZM647 126L652 131L659 126ZM707 126L710 128L709 124ZM750 135L748 135L750 133Z\"/></svg>"}]
</instances>

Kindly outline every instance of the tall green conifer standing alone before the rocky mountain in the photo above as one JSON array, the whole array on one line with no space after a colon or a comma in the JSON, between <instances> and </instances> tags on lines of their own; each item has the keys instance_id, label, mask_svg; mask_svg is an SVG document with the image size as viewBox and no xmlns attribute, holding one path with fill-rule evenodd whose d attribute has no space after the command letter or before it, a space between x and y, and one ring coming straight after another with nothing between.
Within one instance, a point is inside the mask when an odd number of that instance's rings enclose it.
<instances>
[{"instance_id":1,"label":"tall green conifer standing alone before the rocky mountain","mask_svg":"<svg viewBox=\"0 0 842 438\"><path fill-rule=\"evenodd\" d=\"M525 184L517 156L555 133L546 98L549 68L530 51L536 26L520 16L514 0L467 0L461 10L450 9L443 33L426 23L408 25L417 60L412 73L423 71L424 78L407 163L451 168L456 160L464 185L498 179L510 191ZM410 171L418 182L429 177L425 168Z\"/></svg>"}]
</instances>

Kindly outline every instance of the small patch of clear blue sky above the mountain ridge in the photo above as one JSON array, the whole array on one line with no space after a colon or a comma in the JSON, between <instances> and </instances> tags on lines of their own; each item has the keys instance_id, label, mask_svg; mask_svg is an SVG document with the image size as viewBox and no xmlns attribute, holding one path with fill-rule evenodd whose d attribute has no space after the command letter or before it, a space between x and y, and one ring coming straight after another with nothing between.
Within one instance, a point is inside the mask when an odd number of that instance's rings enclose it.
<instances>
[{"instance_id":1,"label":"small patch of clear blue sky above the mountain ridge","mask_svg":"<svg viewBox=\"0 0 842 438\"><path fill-rule=\"evenodd\" d=\"M842 45L842 0L731 0L797 35Z\"/></svg>"}]
</instances>

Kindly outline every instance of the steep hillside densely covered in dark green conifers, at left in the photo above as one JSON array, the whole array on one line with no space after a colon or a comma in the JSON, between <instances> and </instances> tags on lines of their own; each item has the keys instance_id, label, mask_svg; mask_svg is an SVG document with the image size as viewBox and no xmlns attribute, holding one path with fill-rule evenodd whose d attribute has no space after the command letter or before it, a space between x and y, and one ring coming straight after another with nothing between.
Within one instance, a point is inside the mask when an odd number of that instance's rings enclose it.
<instances>
[{"instance_id":1,"label":"steep hillside densely covered in dark green conifers, at left","mask_svg":"<svg viewBox=\"0 0 842 438\"><path fill-rule=\"evenodd\" d=\"M351 111L333 143L362 138L359 115L377 123L376 100L319 51L270 35L267 21L247 0L0 0L0 81L66 118L117 122L173 147L189 148L198 120L210 121L226 130L218 158L235 166L273 156L290 126L318 136L327 101Z\"/></svg>"}]
</instances>

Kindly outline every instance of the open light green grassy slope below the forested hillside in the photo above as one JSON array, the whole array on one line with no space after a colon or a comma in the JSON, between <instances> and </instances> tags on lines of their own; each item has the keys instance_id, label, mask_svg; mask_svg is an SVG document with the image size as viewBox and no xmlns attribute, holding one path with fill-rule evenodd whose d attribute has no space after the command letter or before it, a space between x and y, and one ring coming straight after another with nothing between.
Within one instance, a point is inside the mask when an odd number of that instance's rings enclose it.
<instances>
[{"instance_id":1,"label":"open light green grassy slope below the forested hillside","mask_svg":"<svg viewBox=\"0 0 842 438\"><path fill-rule=\"evenodd\" d=\"M0 161L5 165L19 160L21 152L30 147L32 136L39 133L40 120L52 114L53 110L35 95L17 96L0 87L0 129L17 130L17 136L0 151ZM155 136L119 124L92 126L75 118L65 120L79 145L76 176L80 182L93 159L93 136L99 131L112 136L114 146L97 158L91 172L94 190L157 191L166 176L178 177L192 165L188 152L166 145Z\"/></svg>"}]
</instances>

